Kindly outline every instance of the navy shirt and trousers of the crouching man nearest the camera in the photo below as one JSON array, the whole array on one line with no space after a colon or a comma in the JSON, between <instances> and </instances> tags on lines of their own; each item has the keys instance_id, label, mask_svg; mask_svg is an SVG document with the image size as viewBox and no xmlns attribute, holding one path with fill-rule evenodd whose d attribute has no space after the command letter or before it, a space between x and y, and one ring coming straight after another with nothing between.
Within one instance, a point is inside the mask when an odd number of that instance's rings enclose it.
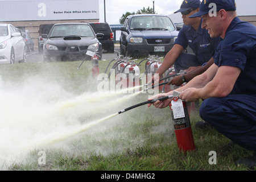
<instances>
[{"instance_id":1,"label":"navy shirt and trousers of the crouching man nearest the camera","mask_svg":"<svg viewBox=\"0 0 256 182\"><path fill-rule=\"evenodd\" d=\"M233 142L256 151L256 27L235 18L214 63L238 67L242 72L227 97L203 102L200 116Z\"/></svg>"}]
</instances>

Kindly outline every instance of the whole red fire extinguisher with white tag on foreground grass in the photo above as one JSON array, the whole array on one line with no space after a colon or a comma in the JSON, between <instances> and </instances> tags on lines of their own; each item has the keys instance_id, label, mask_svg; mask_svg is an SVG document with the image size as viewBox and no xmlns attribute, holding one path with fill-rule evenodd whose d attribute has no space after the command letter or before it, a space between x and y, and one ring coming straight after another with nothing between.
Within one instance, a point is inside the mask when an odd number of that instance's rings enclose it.
<instances>
[{"instance_id":1,"label":"whole red fire extinguisher with white tag on foreground grass","mask_svg":"<svg viewBox=\"0 0 256 182\"><path fill-rule=\"evenodd\" d=\"M193 151L196 147L193 139L187 103L179 99L179 94L180 92L174 91L174 97L170 104L177 145L180 151Z\"/></svg>"}]
</instances>

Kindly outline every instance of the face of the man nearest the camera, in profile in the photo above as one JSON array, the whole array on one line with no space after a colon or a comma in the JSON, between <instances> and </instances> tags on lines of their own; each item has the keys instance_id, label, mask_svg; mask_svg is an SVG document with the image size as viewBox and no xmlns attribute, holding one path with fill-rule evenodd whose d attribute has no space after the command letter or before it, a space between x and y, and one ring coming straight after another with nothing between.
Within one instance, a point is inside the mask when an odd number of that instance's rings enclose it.
<instances>
[{"instance_id":1,"label":"face of the man nearest the camera, in profile","mask_svg":"<svg viewBox=\"0 0 256 182\"><path fill-rule=\"evenodd\" d=\"M220 16L209 16L209 14L202 15L203 23L202 28L208 30L208 34L211 38L217 38L221 36L222 24L220 21Z\"/></svg>"}]
</instances>

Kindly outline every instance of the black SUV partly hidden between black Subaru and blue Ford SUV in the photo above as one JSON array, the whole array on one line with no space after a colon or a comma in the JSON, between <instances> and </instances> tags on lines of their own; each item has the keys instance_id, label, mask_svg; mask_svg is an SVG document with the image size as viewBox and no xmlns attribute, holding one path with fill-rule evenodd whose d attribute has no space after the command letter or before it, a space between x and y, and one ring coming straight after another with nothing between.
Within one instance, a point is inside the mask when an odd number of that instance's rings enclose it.
<instances>
[{"instance_id":1,"label":"black SUV partly hidden between black Subaru and blue Ford SUV","mask_svg":"<svg viewBox=\"0 0 256 182\"><path fill-rule=\"evenodd\" d=\"M101 38L98 38L102 44L102 49L109 53L114 53L114 35L108 23L89 23L93 28L95 34L102 34Z\"/></svg>"}]
</instances>

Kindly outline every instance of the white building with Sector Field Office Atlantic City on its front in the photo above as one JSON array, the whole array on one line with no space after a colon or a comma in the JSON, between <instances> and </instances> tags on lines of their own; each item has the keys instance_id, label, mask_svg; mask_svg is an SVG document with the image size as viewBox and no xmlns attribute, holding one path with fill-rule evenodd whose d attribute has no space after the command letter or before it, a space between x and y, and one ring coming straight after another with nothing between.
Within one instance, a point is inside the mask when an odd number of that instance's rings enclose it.
<instances>
[{"instance_id":1,"label":"white building with Sector Field Office Atlantic City on its front","mask_svg":"<svg viewBox=\"0 0 256 182\"><path fill-rule=\"evenodd\" d=\"M40 24L89 23L99 19L98 0L0 0L0 23L28 32L35 46Z\"/></svg>"}]
</instances>

